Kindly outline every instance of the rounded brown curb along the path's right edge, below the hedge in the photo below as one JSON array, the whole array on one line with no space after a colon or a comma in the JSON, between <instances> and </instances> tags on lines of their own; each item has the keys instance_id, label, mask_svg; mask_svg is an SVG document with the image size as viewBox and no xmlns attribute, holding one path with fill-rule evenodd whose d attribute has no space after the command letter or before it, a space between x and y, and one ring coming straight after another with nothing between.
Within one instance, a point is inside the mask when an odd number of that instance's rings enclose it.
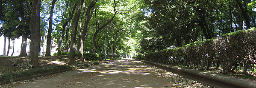
<instances>
[{"instance_id":1,"label":"rounded brown curb along the path's right edge, below the hedge","mask_svg":"<svg viewBox=\"0 0 256 88\"><path fill-rule=\"evenodd\" d=\"M247 79L240 79L221 74L213 74L208 73L206 71L179 68L177 66L163 65L156 62L150 62L145 60L138 61L142 61L150 65L155 65L159 68L174 72L176 74L180 74L190 79L197 80L198 82L210 85L215 88L256 88L256 81L249 81Z\"/></svg>"}]
</instances>

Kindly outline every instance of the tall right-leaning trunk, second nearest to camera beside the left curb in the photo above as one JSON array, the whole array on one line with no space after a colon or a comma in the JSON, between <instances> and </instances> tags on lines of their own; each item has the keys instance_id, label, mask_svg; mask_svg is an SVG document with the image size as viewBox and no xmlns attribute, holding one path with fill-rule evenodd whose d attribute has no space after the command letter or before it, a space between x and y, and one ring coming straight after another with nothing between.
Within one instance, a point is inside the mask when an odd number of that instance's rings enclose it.
<instances>
[{"instance_id":1,"label":"tall right-leaning trunk, second nearest to camera beside the left curb","mask_svg":"<svg viewBox=\"0 0 256 88\"><path fill-rule=\"evenodd\" d=\"M84 0L78 0L77 11L76 11L76 14L75 14L74 20L73 20L73 26L72 26L72 32L71 32L70 52L69 52L68 62L66 63L68 65L74 65L75 64L77 26L78 26L78 21L79 21L79 17L80 17L80 14L81 14L83 2L84 2Z\"/></svg>"}]
</instances>

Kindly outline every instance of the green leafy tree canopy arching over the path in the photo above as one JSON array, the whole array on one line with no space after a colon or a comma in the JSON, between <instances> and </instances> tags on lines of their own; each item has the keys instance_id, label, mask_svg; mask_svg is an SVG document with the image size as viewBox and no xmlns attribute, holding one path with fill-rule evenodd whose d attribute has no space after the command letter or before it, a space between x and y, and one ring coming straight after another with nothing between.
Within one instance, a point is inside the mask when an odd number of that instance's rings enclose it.
<instances>
[{"instance_id":1,"label":"green leafy tree canopy arching over the path","mask_svg":"<svg viewBox=\"0 0 256 88\"><path fill-rule=\"evenodd\" d=\"M74 64L75 52L84 60L83 52L104 54L105 45L108 57L135 55L256 27L256 0L39 1L39 47L44 47L48 35L47 41L59 46L58 56L70 52L68 65ZM30 33L32 2L0 0L1 35L22 36L23 41L34 38ZM21 57L25 57L26 43L22 48Z\"/></svg>"}]
</instances>

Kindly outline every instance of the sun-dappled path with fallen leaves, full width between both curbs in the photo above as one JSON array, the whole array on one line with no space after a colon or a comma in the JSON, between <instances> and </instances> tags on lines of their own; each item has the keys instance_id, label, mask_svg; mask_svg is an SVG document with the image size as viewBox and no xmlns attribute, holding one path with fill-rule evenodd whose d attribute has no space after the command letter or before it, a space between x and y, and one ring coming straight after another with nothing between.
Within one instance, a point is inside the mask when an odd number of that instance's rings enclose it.
<instances>
[{"instance_id":1,"label":"sun-dappled path with fallen leaves, full width between both curbs","mask_svg":"<svg viewBox=\"0 0 256 88\"><path fill-rule=\"evenodd\" d=\"M118 60L0 88L210 88L136 60Z\"/></svg>"}]
</instances>

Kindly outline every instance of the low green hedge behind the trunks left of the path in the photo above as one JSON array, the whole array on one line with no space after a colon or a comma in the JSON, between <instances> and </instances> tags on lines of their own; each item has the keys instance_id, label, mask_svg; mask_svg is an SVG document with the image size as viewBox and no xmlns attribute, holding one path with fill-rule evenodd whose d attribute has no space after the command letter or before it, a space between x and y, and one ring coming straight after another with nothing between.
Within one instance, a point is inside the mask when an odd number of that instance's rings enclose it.
<instances>
[{"instance_id":1,"label":"low green hedge behind the trunks left of the path","mask_svg":"<svg viewBox=\"0 0 256 88\"><path fill-rule=\"evenodd\" d=\"M77 52L75 56L77 56ZM83 53L85 60L95 61L95 60L103 60L105 58L105 54L95 54L95 53ZM69 55L69 52L61 52L61 55ZM57 56L57 53L54 53L53 56Z\"/></svg>"}]
</instances>

